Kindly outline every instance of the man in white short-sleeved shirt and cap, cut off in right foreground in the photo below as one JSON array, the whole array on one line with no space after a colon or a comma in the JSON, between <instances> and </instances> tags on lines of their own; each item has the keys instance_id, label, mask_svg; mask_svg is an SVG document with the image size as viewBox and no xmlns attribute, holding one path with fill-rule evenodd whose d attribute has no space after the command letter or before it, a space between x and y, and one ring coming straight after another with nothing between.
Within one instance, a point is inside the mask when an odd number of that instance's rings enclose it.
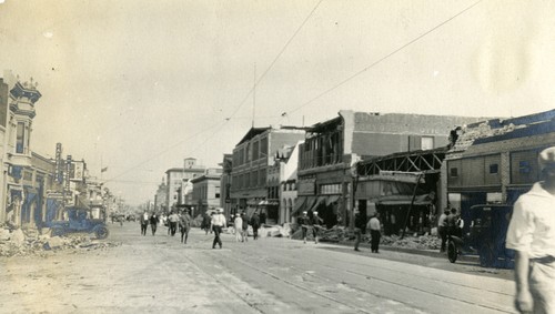
<instances>
[{"instance_id":1,"label":"man in white short-sleeved shirt and cap, cut off in right foreground","mask_svg":"<svg viewBox=\"0 0 555 314\"><path fill-rule=\"evenodd\" d=\"M515 306L523 313L555 313L555 146L538 156L543 181L518 197L506 247L515 250Z\"/></svg>"}]
</instances>

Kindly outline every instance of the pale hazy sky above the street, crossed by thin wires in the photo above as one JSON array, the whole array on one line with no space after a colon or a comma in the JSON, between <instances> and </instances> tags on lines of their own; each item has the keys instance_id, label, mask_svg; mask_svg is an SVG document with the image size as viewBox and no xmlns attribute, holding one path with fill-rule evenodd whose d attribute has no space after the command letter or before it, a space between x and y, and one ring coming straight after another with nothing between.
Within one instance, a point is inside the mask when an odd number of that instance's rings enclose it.
<instances>
[{"instance_id":1,"label":"pale hazy sky above the street, crossed by thin wires","mask_svg":"<svg viewBox=\"0 0 555 314\"><path fill-rule=\"evenodd\" d=\"M253 117L554 109L555 2L474 3L0 0L0 70L39 82L32 150L108 166L133 205L184 158L216 166Z\"/></svg>"}]
</instances>

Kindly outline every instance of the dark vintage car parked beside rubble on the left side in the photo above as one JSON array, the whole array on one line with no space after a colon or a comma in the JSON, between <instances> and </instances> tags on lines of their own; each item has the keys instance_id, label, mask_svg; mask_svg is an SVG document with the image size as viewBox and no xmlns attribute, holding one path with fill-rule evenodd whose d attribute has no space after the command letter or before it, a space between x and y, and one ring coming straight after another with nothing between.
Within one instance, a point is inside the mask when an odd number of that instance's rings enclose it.
<instances>
[{"instance_id":1,"label":"dark vintage car parked beside rubble on the left side","mask_svg":"<svg viewBox=\"0 0 555 314\"><path fill-rule=\"evenodd\" d=\"M102 206L68 206L63 210L63 219L46 224L52 236L68 233L94 233L97 239L105 239L110 233L105 224L105 210Z\"/></svg>"}]
</instances>

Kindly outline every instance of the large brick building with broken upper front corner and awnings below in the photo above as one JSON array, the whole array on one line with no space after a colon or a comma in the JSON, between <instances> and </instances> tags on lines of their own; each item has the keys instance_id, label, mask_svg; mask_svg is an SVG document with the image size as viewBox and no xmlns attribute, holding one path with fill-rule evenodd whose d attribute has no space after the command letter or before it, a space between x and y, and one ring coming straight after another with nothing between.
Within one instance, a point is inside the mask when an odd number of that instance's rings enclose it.
<instances>
[{"instance_id":1,"label":"large brick building with broken upper front corner and awnings below","mask_svg":"<svg viewBox=\"0 0 555 314\"><path fill-rule=\"evenodd\" d=\"M392 184L359 174L357 162L447 146L451 130L477 120L340 111L337 118L309 128L300 145L299 197L293 214L317 211L326 226L352 225L354 206L370 214L376 197L401 193L387 191Z\"/></svg>"}]
</instances>

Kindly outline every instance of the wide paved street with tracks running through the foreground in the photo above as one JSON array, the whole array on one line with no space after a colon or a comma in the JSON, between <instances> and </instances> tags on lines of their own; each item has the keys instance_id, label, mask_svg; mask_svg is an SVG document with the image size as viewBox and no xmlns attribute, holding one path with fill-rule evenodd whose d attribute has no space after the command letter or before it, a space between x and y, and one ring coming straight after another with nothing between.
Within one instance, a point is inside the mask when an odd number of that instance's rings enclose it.
<instances>
[{"instance_id":1,"label":"wide paved street with tracks running through the foreground","mask_svg":"<svg viewBox=\"0 0 555 314\"><path fill-rule=\"evenodd\" d=\"M513 313L509 272L383 250L110 225L103 251L1 259L2 313ZM38 260L37 260L38 259ZM406 261L406 262L400 262Z\"/></svg>"}]
</instances>

